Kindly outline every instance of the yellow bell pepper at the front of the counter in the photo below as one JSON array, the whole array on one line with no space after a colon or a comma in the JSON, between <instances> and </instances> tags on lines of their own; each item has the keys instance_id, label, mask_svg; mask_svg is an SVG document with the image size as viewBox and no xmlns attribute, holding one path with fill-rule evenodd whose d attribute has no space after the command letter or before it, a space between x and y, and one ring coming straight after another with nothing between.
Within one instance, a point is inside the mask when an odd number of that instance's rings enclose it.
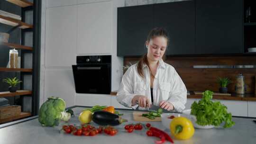
<instances>
[{"instance_id":1,"label":"yellow bell pepper at the front of the counter","mask_svg":"<svg viewBox=\"0 0 256 144\"><path fill-rule=\"evenodd\" d=\"M195 129L192 122L186 117L175 117L170 123L171 134L176 139L189 139L194 135Z\"/></svg>"}]
</instances>

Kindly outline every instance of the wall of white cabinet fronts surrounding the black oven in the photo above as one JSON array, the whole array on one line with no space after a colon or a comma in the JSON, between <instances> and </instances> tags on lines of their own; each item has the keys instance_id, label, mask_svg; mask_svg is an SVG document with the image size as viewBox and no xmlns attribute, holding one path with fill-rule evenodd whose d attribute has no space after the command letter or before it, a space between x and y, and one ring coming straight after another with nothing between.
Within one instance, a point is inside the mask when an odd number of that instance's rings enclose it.
<instances>
[{"instance_id":1,"label":"wall of white cabinet fronts surrounding the black oven","mask_svg":"<svg viewBox=\"0 0 256 144\"><path fill-rule=\"evenodd\" d=\"M117 7L122 6L124 0L42 0L40 106L49 96L56 96L68 107L111 102L122 107L110 95L76 94L72 72L77 55L111 55L111 90L118 90L123 58L116 56ZM98 10L91 13L90 9ZM104 21L108 22L101 24ZM105 51L101 51L103 44Z\"/></svg>"}]
</instances>

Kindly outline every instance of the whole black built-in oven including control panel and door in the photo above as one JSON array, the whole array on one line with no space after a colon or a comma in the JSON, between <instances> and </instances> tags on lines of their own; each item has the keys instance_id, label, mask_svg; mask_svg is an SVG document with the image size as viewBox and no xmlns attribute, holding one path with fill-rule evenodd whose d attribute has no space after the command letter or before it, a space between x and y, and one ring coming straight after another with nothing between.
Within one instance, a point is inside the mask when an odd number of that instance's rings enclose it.
<instances>
[{"instance_id":1,"label":"whole black built-in oven including control panel and door","mask_svg":"<svg viewBox=\"0 0 256 144\"><path fill-rule=\"evenodd\" d=\"M111 55L77 56L72 69L76 93L110 94Z\"/></svg>"}]
</instances>

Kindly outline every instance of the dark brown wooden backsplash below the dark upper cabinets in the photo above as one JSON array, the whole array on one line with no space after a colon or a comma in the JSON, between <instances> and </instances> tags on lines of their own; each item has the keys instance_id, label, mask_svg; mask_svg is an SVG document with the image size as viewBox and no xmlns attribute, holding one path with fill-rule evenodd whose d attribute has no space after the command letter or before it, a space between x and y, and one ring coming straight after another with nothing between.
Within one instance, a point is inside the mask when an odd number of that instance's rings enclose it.
<instances>
[{"instance_id":1,"label":"dark brown wooden backsplash below the dark upper cabinets","mask_svg":"<svg viewBox=\"0 0 256 144\"><path fill-rule=\"evenodd\" d=\"M139 58L125 58L124 66L134 64ZM229 92L235 92L236 76L242 73L247 84L246 93L254 93L256 68L193 68L193 65L256 65L256 56L225 57L168 57L165 63L174 66L187 90L219 91L217 77L229 77Z\"/></svg>"}]
</instances>

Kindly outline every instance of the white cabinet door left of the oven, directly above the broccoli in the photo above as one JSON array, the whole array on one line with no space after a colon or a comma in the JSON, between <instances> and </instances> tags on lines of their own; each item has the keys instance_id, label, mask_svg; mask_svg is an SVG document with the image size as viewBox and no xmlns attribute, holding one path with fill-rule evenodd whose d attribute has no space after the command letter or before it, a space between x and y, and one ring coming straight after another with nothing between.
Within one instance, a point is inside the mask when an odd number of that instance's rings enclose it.
<instances>
[{"instance_id":1,"label":"white cabinet door left of the oven, directly above the broccoli","mask_svg":"<svg viewBox=\"0 0 256 144\"><path fill-rule=\"evenodd\" d=\"M45 100L54 96L65 100L66 107L74 106L75 88L72 69L46 69Z\"/></svg>"}]
</instances>

